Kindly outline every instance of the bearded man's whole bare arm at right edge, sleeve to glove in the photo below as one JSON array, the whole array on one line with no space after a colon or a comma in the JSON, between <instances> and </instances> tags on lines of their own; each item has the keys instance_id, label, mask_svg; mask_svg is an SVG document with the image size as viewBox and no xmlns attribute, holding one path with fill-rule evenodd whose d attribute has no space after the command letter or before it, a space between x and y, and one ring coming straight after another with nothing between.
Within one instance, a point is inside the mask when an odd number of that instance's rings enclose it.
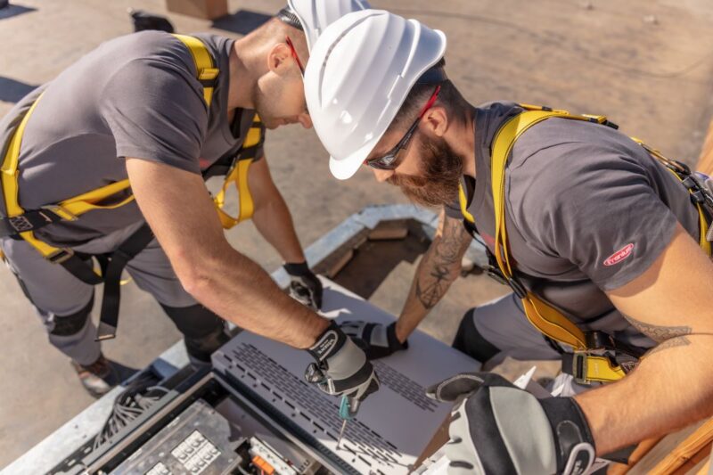
<instances>
[{"instance_id":1,"label":"bearded man's whole bare arm at right edge, sleeve to glove","mask_svg":"<svg viewBox=\"0 0 713 475\"><path fill-rule=\"evenodd\" d=\"M679 225L631 283L608 293L659 343L633 373L575 397L602 455L713 415L713 265Z\"/></svg>"}]
</instances>

